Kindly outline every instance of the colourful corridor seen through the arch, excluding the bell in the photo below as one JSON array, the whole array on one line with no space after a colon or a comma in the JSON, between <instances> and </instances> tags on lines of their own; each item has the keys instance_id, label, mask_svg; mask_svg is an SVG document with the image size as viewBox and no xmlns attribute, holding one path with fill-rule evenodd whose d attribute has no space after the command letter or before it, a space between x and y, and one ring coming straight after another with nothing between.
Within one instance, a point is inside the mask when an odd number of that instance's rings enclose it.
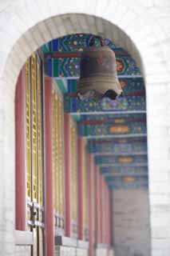
<instances>
[{"instance_id":1,"label":"colourful corridor seen through the arch, excluding the bell","mask_svg":"<svg viewBox=\"0 0 170 256\"><path fill-rule=\"evenodd\" d=\"M125 96L78 100L81 53L92 37L46 43L18 78L16 230L33 234L28 255L53 255L54 248L59 255L149 254L144 78L132 57L105 38Z\"/></svg>"}]
</instances>

